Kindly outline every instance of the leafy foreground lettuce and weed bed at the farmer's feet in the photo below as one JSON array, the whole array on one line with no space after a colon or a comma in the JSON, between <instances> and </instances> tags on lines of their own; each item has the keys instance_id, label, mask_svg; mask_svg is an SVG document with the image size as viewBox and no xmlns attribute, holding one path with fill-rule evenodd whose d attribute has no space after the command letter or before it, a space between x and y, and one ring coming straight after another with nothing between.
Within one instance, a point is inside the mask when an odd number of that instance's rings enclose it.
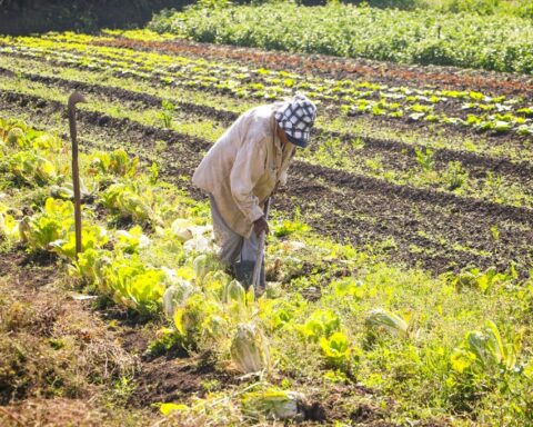
<instances>
[{"instance_id":1,"label":"leafy foreground lettuce and weed bed at the farmer's feet","mask_svg":"<svg viewBox=\"0 0 533 427\"><path fill-rule=\"evenodd\" d=\"M198 421L215 405L234 423L298 419L305 397L291 378L300 377L324 393L362 380L400 399L400 417L435 415L421 411L421 399L441 414L493 421L497 401L506 418L531 421L533 366L521 337L533 296L529 284L517 287L513 270L432 279L318 239L298 219L279 219L266 258L278 285L258 299L217 261L207 206L161 182L157 166L140 170L123 150L81 157L76 256L68 155L57 136L0 122L2 239L57 254L80 286L120 306L164 314L169 328L151 352L209 351L230 373L261 375L234 395L162 406L169 416ZM319 298L302 297L309 292Z\"/></svg>"}]
</instances>

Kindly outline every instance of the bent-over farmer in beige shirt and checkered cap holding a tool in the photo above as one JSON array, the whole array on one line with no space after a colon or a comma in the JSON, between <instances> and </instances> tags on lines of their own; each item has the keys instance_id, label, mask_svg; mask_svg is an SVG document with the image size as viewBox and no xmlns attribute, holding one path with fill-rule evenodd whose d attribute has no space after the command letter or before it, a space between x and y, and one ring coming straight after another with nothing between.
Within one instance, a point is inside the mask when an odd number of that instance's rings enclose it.
<instances>
[{"instance_id":1,"label":"bent-over farmer in beige shirt and checkered cap holding a tool","mask_svg":"<svg viewBox=\"0 0 533 427\"><path fill-rule=\"evenodd\" d=\"M219 258L247 287L261 232L269 232L264 202L285 183L295 147L308 145L315 116L315 106L303 95L252 108L211 147L192 177L209 193Z\"/></svg>"}]
</instances>

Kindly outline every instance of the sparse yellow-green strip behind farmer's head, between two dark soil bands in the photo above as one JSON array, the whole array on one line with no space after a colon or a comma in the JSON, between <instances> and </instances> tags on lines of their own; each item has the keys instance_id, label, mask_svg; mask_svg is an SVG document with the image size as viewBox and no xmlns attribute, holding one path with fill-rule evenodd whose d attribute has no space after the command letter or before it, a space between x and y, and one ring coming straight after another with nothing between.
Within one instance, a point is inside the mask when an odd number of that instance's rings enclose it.
<instances>
[{"instance_id":1,"label":"sparse yellow-green strip behind farmer's head, between two dark soil bands","mask_svg":"<svg viewBox=\"0 0 533 427\"><path fill-rule=\"evenodd\" d=\"M59 80L61 93L51 97L47 92L49 83L46 86L36 83L36 76L38 75L27 75L20 71L17 85L23 93L37 93L40 98L59 100L61 97L66 97L69 90L79 88L77 81ZM26 79L32 81L31 89ZM24 82L24 89L22 89ZM6 85L9 87L9 80ZM26 89L27 86L28 89ZM191 136L202 136L210 141L214 141L223 132L223 128L210 119L209 112L197 112L194 109L191 111L189 107L175 106L168 99L158 97L150 98L150 100L155 101L155 106L158 100L162 102L160 108L141 109L137 102L114 99L113 88L109 89L108 96L105 88L95 86L88 89L90 91L102 90L98 102L97 99L93 99L87 106L88 109L118 118L129 118L147 126L157 126ZM131 91L132 96L135 93L135 91ZM120 115L117 116L119 111ZM188 127L190 122L199 125L191 129ZM224 125L228 126L229 122ZM460 196L482 198L509 206L532 206L531 195L524 179L516 179L516 177L491 170L486 172L483 170L483 175L480 176L477 168L471 169L460 160L438 161L438 157L439 152L430 148L419 147L412 152L400 152L400 149L375 150L372 148L372 142L368 146L365 139L333 138L328 133L321 136L309 150L299 153L299 158L309 163L370 176L395 185L451 191Z\"/></svg>"}]
</instances>

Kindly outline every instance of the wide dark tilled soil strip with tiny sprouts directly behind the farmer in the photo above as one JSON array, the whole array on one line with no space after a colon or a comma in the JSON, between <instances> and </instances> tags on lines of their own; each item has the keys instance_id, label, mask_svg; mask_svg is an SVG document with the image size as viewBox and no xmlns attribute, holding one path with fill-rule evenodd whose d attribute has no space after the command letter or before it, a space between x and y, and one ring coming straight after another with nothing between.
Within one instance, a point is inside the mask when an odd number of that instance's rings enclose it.
<instances>
[{"instance_id":1,"label":"wide dark tilled soil strip with tiny sprouts directly behind the farmer","mask_svg":"<svg viewBox=\"0 0 533 427\"><path fill-rule=\"evenodd\" d=\"M3 92L0 101L2 110L13 116L18 109L36 111L41 122L63 109L59 102L11 92ZM159 159L165 179L185 182L193 197L203 197L188 178L210 141L98 112L80 111L79 119L82 137L107 146L128 141L132 152ZM167 143L162 152L155 152L158 141ZM516 175L524 178L529 169L526 165L524 169L511 163L503 167L517 168ZM299 208L308 224L334 239L358 247L371 245L394 260L435 272L469 266L505 269L511 264L525 272L531 265L531 209L395 186L302 161L294 162L290 175L286 189L275 197L275 209L290 216ZM491 231L494 227L497 238Z\"/></svg>"}]
</instances>

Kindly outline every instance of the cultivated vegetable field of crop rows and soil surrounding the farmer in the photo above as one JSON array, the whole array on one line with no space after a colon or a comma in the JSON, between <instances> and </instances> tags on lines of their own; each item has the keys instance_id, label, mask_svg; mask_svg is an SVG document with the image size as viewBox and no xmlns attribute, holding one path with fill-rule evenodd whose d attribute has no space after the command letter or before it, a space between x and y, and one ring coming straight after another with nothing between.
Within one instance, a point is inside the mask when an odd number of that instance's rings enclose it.
<instances>
[{"instance_id":1,"label":"cultivated vegetable field of crop rows and soil surrounding the farmer","mask_svg":"<svg viewBox=\"0 0 533 427\"><path fill-rule=\"evenodd\" d=\"M240 113L296 91L318 121L255 299L191 176ZM0 37L0 424L532 425L532 142L529 75Z\"/></svg>"}]
</instances>

